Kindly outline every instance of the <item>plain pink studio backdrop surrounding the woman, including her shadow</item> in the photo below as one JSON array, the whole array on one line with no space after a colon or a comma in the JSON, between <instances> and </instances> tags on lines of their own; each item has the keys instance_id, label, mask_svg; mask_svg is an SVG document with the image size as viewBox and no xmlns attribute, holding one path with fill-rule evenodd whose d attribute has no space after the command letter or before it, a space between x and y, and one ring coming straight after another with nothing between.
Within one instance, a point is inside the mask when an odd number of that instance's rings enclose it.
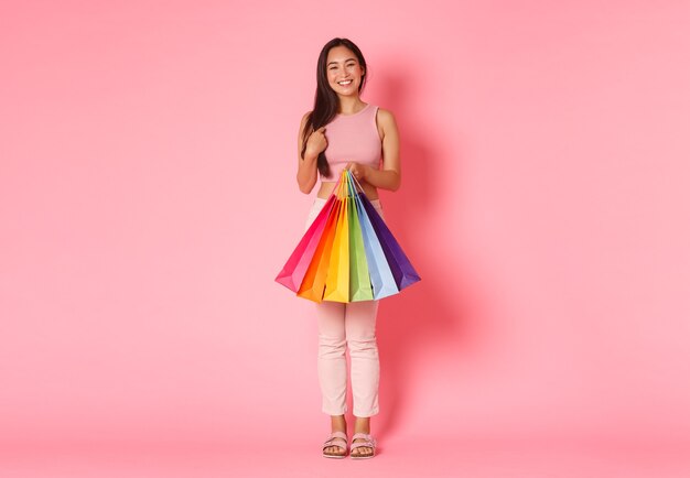
<instances>
[{"instance_id":1,"label":"plain pink studio backdrop surrounding the woman, including her shadow","mask_svg":"<svg viewBox=\"0 0 690 478\"><path fill-rule=\"evenodd\" d=\"M0 471L363 470L320 456L313 305L273 282L315 195L316 57L346 36L398 119L381 202L422 275L380 306L369 476L688 476L689 21L680 0L3 2Z\"/></svg>"}]
</instances>

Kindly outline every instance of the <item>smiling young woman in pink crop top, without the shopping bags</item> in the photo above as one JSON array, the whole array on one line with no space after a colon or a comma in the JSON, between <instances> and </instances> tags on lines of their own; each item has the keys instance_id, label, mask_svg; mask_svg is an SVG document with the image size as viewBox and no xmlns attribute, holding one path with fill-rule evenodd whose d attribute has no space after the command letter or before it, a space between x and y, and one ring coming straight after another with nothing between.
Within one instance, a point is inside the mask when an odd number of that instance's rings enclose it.
<instances>
[{"instance_id":1,"label":"smiling young woman in pink crop top, without the shopping bags","mask_svg":"<svg viewBox=\"0 0 690 478\"><path fill-rule=\"evenodd\" d=\"M359 97L366 74L362 52L347 39L331 40L319 55L314 108L302 118L298 135L300 191L310 194L321 178L305 229L326 203L344 169L358 180L381 218L378 188L400 187L396 120L390 111ZM331 415L331 435L323 445L325 457L344 458L347 454L346 346L355 415L349 454L353 458L370 458L375 454L369 420L379 412L377 311L378 301L316 304L322 411Z\"/></svg>"}]
</instances>

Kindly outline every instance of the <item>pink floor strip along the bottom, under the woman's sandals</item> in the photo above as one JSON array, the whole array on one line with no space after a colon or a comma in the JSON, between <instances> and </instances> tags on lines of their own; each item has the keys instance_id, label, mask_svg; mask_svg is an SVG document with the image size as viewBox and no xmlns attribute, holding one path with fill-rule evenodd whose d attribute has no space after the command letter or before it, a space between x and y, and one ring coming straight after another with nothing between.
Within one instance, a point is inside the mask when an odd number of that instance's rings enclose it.
<instances>
[{"instance_id":1,"label":"pink floor strip along the bottom, under the woman's sandals","mask_svg":"<svg viewBox=\"0 0 690 478\"><path fill-rule=\"evenodd\" d=\"M380 441L380 438L379 438ZM326 459L320 437L234 443L24 444L2 447L7 478L473 477L688 478L686 444L388 437L373 459Z\"/></svg>"}]
</instances>

